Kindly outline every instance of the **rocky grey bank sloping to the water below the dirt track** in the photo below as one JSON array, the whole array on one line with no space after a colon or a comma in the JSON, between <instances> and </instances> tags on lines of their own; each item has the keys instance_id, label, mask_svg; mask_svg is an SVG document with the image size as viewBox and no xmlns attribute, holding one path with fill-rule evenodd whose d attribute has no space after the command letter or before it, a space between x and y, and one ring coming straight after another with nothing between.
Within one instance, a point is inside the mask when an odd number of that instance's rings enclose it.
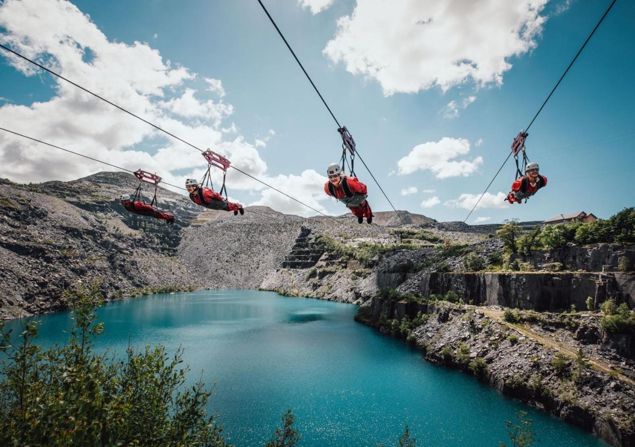
<instances>
[{"instance_id":1,"label":"rocky grey bank sloping to the water below the dirt track","mask_svg":"<svg viewBox=\"0 0 635 447\"><path fill-rule=\"evenodd\" d=\"M563 343L550 346L530 328L507 324L492 313L445 301L373 298L356 319L406 338L428 361L461 369L612 445L635 445L635 382L631 378L618 375L617 368L607 368L601 358L586 356L576 361L575 349L587 350L582 342L568 345L570 349L563 348ZM622 364L633 368L632 359L622 359Z\"/></svg>"}]
</instances>

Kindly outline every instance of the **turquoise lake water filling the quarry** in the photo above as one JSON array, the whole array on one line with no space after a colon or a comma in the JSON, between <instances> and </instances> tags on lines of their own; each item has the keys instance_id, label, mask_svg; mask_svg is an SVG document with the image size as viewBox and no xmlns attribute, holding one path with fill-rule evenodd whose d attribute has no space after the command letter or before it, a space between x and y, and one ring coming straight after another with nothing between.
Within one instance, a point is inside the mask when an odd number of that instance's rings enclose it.
<instances>
[{"instance_id":1,"label":"turquoise lake water filling the quarry","mask_svg":"<svg viewBox=\"0 0 635 447\"><path fill-rule=\"evenodd\" d=\"M505 420L533 418L537 445L606 446L584 430L434 366L401 340L353 320L354 305L263 291L156 294L108 303L97 347L182 345L190 382L203 370L227 441L262 446L287 408L302 446L397 444L404 425L417 446L498 446ZM39 315L39 343L64 343L70 313ZM20 322L12 320L14 334ZM63 332L66 331L66 332Z\"/></svg>"}]
</instances>

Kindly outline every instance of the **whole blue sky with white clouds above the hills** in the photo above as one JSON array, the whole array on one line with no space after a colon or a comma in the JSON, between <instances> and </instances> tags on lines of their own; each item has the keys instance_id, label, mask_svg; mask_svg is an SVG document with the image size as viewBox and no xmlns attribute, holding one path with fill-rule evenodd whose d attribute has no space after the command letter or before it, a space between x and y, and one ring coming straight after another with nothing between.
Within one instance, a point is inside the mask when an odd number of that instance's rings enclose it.
<instances>
[{"instance_id":1,"label":"whole blue sky with white clouds above the hills","mask_svg":"<svg viewBox=\"0 0 635 447\"><path fill-rule=\"evenodd\" d=\"M610 1L264 4L396 209L463 221ZM531 125L527 155L547 187L504 202L510 158L467 223L632 206L632 17L635 3L617 0ZM342 153L337 124L256 0L4 0L0 43L321 212L347 211L323 191ZM206 169L196 149L4 50L0 127L172 184ZM101 170L0 132L0 177ZM391 210L359 160L355 170L373 210ZM244 205L316 214L236 170L227 189Z\"/></svg>"}]
</instances>

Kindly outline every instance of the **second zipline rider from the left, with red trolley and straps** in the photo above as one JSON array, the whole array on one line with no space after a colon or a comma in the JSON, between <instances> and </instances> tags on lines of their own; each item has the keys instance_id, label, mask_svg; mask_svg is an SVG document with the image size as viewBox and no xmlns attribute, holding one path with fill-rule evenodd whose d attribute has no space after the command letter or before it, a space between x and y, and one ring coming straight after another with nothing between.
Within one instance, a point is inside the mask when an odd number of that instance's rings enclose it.
<instances>
[{"instance_id":1,"label":"second zipline rider from the left, with red trolley and straps","mask_svg":"<svg viewBox=\"0 0 635 447\"><path fill-rule=\"evenodd\" d=\"M229 168L231 163L227 160L227 158L222 155L218 155L210 149L204 151L203 156L208 162L207 172L205 172L203 180L200 183L196 179L187 179L185 181L185 188L187 189L187 192L190 193L190 200L201 207L219 211L233 211L234 216L238 213L243 216L243 205L240 203L229 202L227 199L225 176L227 175L227 168ZM210 169L212 166L215 166L223 171L223 186L220 188L220 193L214 191L213 184L211 183ZM225 191L225 197L222 195L223 191Z\"/></svg>"}]
</instances>

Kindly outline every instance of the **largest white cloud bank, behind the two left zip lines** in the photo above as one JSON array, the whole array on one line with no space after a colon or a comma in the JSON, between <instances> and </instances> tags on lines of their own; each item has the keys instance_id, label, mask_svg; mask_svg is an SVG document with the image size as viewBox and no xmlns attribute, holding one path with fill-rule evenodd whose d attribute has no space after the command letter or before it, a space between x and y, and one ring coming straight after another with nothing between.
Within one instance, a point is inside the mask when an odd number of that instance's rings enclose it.
<instances>
[{"instance_id":1,"label":"largest white cloud bank, behind the two left zip lines","mask_svg":"<svg viewBox=\"0 0 635 447\"><path fill-rule=\"evenodd\" d=\"M147 43L111 41L88 15L64 0L6 0L0 4L0 30L4 45L187 141L227 156L244 172L319 206L316 190L322 188L325 179L318 180L317 174L306 171L299 176L272 176L258 153L260 144L245 141L234 123L222 126L233 111L231 104L206 97L210 89L218 97L225 94L220 80L207 78L209 88L195 90L189 84L196 73L170 64ZM41 74L22 60L3 55L25 76ZM3 127L123 168L157 172L172 184L203 176L206 166L194 149L61 79L48 75L43 79L53 82L51 98L27 105L1 104ZM267 137L272 134L269 131ZM146 151L149 147L151 153ZM0 177L18 182L68 181L105 169L110 168L0 132ZM222 172L215 170L215 184L221 178ZM296 186L294 181L304 186ZM309 181L317 182L317 186L311 189ZM265 186L236 170L228 171L227 184L236 198L256 194L260 196L257 202L279 204L277 209L283 212L315 214L297 209L301 205L296 202L286 207L276 202L273 195L279 193L265 190ZM326 198L324 195L323 200ZM315 208L323 210L318 206Z\"/></svg>"}]
</instances>

